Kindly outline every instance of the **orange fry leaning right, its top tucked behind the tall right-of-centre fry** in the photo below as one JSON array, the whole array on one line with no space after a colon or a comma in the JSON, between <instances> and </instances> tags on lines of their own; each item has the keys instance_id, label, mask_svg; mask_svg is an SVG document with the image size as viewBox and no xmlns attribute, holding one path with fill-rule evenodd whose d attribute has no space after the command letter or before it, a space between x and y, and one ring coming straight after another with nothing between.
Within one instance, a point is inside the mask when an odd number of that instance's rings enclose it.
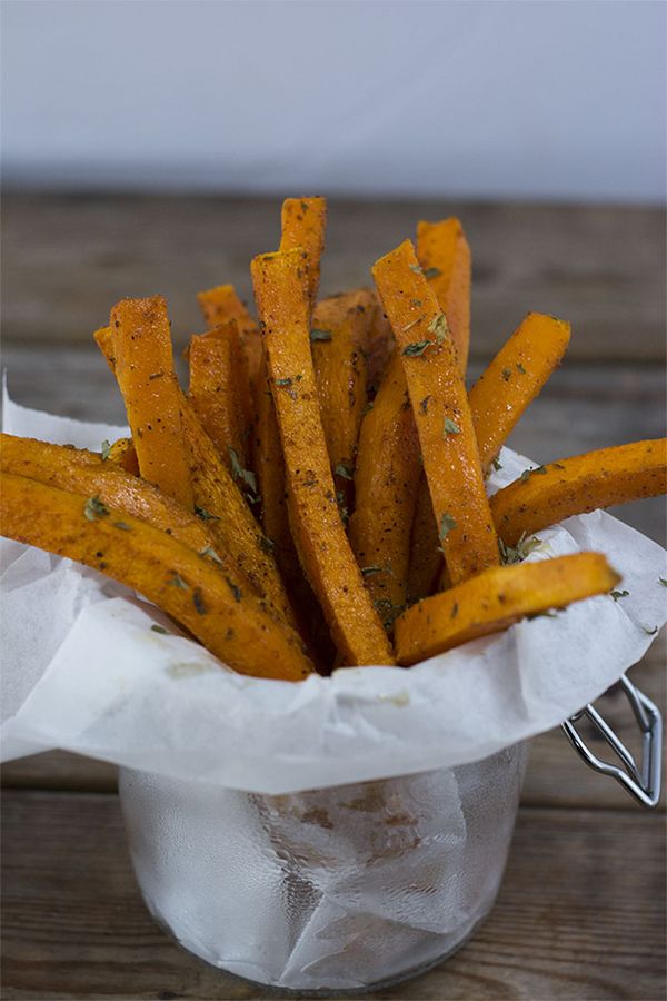
<instances>
[{"instance_id":1,"label":"orange fry leaning right, its top tucked behind the tall right-of-centre fry","mask_svg":"<svg viewBox=\"0 0 667 1001\"><path fill-rule=\"evenodd\" d=\"M395 354L361 424L356 508L348 525L366 587L386 626L406 604L419 473L417 428L400 358Z\"/></svg>"}]
</instances>

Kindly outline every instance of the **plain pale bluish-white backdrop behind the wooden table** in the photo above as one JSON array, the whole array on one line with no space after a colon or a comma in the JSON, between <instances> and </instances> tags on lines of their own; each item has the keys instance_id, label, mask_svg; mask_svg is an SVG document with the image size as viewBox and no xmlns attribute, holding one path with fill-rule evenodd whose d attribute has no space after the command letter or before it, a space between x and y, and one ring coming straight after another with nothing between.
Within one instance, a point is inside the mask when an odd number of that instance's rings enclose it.
<instances>
[{"instance_id":1,"label":"plain pale bluish-white backdrop behind the wooden table","mask_svg":"<svg viewBox=\"0 0 667 1001\"><path fill-rule=\"evenodd\" d=\"M661 200L665 11L4 0L4 180Z\"/></svg>"}]
</instances>

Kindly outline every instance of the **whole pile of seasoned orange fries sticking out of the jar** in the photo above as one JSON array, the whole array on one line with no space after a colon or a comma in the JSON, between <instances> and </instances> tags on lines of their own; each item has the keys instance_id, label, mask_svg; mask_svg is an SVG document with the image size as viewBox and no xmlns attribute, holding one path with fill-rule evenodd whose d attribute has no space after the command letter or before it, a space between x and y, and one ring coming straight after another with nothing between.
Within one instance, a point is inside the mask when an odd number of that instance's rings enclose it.
<instances>
[{"instance_id":1,"label":"whole pile of seasoned orange fries sticking out of the jar","mask_svg":"<svg viewBox=\"0 0 667 1001\"><path fill-rule=\"evenodd\" d=\"M318 301L327 207L282 206L251 265L257 319L203 291L179 386L165 300L123 299L94 338L131 438L101 454L3 436L2 532L127 584L245 674L410 665L619 583L606 558L522 562L535 533L667 488L666 440L485 477L560 363L528 314L466 389L470 250L420 222L377 291ZM158 632L160 626L153 626Z\"/></svg>"}]
</instances>

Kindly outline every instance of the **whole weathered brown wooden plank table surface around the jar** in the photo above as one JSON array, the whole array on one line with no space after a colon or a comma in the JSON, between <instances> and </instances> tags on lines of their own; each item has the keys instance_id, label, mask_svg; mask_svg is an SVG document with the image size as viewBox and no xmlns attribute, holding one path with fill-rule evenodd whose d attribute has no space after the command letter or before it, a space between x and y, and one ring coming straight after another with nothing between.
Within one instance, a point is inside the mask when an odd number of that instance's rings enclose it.
<instances>
[{"instance_id":1,"label":"whole weathered brown wooden plank table surface around the jar","mask_svg":"<svg viewBox=\"0 0 667 1001\"><path fill-rule=\"evenodd\" d=\"M437 202L331 205L323 290L368 281L418 218L456 212L476 283L471 371L529 309L574 326L568 360L511 443L547 462L665 433L665 217L657 209ZM195 294L277 242L278 202L6 196L3 365L13 397L122 420L90 331L127 295L163 293L177 344L200 328ZM664 543L664 506L621 517ZM665 711L665 644L631 676ZM633 740L624 700L604 711ZM593 740L593 736L590 736ZM178 949L130 869L115 769L61 752L3 769L2 989L7 999L259 999ZM665 814L589 772L559 731L532 742L498 903L446 964L392 999L659 999L665 995Z\"/></svg>"}]
</instances>

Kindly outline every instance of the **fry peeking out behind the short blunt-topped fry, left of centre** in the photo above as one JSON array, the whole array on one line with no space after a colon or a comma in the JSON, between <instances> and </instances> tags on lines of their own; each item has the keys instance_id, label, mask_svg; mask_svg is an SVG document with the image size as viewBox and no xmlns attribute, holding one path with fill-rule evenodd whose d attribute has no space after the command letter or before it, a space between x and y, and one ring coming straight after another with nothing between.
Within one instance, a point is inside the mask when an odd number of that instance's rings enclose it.
<instances>
[{"instance_id":1,"label":"fry peeking out behind the short blunt-topped fry, left of centre","mask_svg":"<svg viewBox=\"0 0 667 1001\"><path fill-rule=\"evenodd\" d=\"M236 329L229 326L226 329L232 344L236 370L236 379L231 388L236 397L236 407L240 412L245 442L239 456L242 455L242 460L247 465L250 458L248 442L252 434L253 419L252 384L257 379L261 366L261 341L257 324L237 296L233 285L218 285L216 288L199 293L197 298L203 318L211 330L220 325L228 325L230 320L236 320L237 324ZM216 337L218 335L210 333L206 336Z\"/></svg>"}]
</instances>

